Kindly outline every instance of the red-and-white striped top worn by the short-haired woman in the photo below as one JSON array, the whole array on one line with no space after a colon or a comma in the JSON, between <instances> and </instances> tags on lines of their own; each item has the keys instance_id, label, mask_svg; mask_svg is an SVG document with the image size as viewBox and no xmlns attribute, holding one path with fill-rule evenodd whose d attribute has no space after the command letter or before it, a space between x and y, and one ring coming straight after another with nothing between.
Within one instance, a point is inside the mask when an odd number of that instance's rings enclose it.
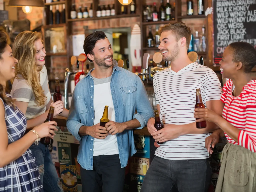
<instances>
[{"instance_id":1,"label":"red-and-white striped top worn by the short-haired woman","mask_svg":"<svg viewBox=\"0 0 256 192\"><path fill-rule=\"evenodd\" d=\"M256 152L256 81L252 80L244 86L238 97L232 95L232 86L232 80L228 80L223 87L221 101L225 107L222 116L241 131L238 143L225 135L228 142Z\"/></svg>"}]
</instances>

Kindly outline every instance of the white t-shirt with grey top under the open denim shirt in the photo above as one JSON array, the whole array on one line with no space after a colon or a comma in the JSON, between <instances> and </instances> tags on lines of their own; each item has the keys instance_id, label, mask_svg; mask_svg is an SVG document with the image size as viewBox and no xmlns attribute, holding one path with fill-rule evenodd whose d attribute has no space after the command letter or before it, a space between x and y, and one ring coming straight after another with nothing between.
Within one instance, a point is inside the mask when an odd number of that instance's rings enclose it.
<instances>
[{"instance_id":1,"label":"white t-shirt with grey top under the open denim shirt","mask_svg":"<svg viewBox=\"0 0 256 192\"><path fill-rule=\"evenodd\" d=\"M110 89L111 77L94 78L94 124L100 123L105 106L109 106L108 119L115 121L115 109ZM102 94L104 93L104 99ZM116 135L109 134L105 139L94 139L93 156L119 154Z\"/></svg>"}]
</instances>

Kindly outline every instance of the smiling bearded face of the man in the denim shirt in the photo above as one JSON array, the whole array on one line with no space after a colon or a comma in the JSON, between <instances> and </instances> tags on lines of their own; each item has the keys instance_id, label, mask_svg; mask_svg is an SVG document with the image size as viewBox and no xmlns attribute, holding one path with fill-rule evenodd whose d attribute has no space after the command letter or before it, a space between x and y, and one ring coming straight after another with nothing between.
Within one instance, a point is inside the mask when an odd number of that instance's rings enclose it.
<instances>
[{"instance_id":1,"label":"smiling bearded face of the man in the denim shirt","mask_svg":"<svg viewBox=\"0 0 256 192\"><path fill-rule=\"evenodd\" d=\"M88 54L94 64L100 67L109 68L113 66L113 50L107 38L100 39L95 44L93 54Z\"/></svg>"}]
</instances>

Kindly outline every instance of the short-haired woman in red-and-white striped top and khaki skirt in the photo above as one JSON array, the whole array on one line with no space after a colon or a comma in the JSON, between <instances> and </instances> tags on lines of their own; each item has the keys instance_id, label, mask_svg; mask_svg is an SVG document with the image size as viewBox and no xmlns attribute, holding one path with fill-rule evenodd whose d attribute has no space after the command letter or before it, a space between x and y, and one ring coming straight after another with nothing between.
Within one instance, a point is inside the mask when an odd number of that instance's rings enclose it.
<instances>
[{"instance_id":1,"label":"short-haired woman in red-and-white striped top and khaki skirt","mask_svg":"<svg viewBox=\"0 0 256 192\"><path fill-rule=\"evenodd\" d=\"M212 147L224 135L228 144L221 157L221 168L216 192L256 191L256 81L250 72L256 65L256 51L245 42L230 44L220 62L223 78L221 101L225 104L222 117L209 109L195 109L195 118L211 121L219 130L206 139L206 148Z\"/></svg>"}]
</instances>

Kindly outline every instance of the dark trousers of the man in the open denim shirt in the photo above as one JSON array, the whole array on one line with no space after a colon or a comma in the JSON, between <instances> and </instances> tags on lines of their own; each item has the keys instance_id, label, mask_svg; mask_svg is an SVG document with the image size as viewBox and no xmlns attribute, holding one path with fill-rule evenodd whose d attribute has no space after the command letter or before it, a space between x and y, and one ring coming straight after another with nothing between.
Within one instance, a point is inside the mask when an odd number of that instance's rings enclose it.
<instances>
[{"instance_id":1,"label":"dark trousers of the man in the open denim shirt","mask_svg":"<svg viewBox=\"0 0 256 192\"><path fill-rule=\"evenodd\" d=\"M119 155L93 157L93 170L81 167L82 192L122 192L125 168L121 168Z\"/></svg>"}]
</instances>

